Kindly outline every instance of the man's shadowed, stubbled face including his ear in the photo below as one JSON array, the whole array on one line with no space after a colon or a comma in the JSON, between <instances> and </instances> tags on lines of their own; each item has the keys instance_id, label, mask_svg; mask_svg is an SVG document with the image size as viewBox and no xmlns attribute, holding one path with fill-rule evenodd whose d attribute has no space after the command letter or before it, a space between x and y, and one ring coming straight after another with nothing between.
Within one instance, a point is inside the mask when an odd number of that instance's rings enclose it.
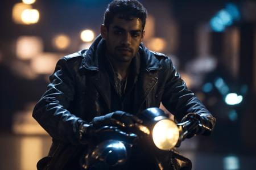
<instances>
[{"instance_id":1,"label":"man's shadowed, stubbled face including his ear","mask_svg":"<svg viewBox=\"0 0 256 170\"><path fill-rule=\"evenodd\" d=\"M130 62L137 54L143 40L142 21L139 18L125 20L115 16L109 29L101 26L101 35L106 40L110 56L117 62Z\"/></svg>"}]
</instances>

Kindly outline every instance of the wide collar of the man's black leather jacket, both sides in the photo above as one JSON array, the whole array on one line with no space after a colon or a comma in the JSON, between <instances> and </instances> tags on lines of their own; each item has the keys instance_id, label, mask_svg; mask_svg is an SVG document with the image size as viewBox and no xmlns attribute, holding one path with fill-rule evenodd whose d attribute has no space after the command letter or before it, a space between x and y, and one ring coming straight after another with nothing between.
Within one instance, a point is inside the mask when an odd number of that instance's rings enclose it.
<instances>
[{"instance_id":1,"label":"wide collar of the man's black leather jacket, both sides","mask_svg":"<svg viewBox=\"0 0 256 170\"><path fill-rule=\"evenodd\" d=\"M96 37L90 48L82 53L84 57L82 59L82 67L90 71L99 71L98 58L100 58L104 43L105 40L102 39L101 35ZM141 56L142 69L144 67L148 72L161 69L160 62L155 57L154 53L148 50L143 43L139 45L139 53Z\"/></svg>"}]
</instances>

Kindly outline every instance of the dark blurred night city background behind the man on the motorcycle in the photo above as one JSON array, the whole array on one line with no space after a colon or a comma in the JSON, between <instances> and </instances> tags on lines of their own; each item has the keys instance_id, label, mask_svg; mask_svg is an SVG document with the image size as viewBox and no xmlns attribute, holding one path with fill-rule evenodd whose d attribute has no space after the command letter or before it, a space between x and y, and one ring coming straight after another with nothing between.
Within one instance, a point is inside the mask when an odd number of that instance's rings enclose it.
<instances>
[{"instance_id":1,"label":"dark blurred night city background behind the man on the motorcycle","mask_svg":"<svg viewBox=\"0 0 256 170\"><path fill-rule=\"evenodd\" d=\"M40 12L40 18L31 25L14 22L13 6L19 2L0 2L0 169L30 170L36 169L36 161L47 154L51 143L31 117L51 70L35 73L33 58L19 57L17 40L21 36L38 37L40 55L53 56L57 61L81 49L82 30L91 29L95 36L100 33L104 10L111 1L37 0L32 7ZM146 29L150 36L144 44L150 47L153 43L154 48L159 45L154 37L164 41L159 52L172 58L188 87L217 118L212 136L188 139L180 151L197 170L255 169L256 1L140 2L151 18ZM210 21L228 4L236 7L238 18L216 31ZM69 37L65 49L52 43L59 34ZM47 64L42 63L42 67ZM230 93L242 96L242 101L227 104L225 97Z\"/></svg>"}]
</instances>

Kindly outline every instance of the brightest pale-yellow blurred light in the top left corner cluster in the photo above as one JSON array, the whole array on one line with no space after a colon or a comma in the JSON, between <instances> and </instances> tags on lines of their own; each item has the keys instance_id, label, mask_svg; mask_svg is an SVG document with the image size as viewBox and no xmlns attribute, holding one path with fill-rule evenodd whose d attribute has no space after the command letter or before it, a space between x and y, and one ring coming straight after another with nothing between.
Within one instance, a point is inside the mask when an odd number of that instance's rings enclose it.
<instances>
[{"instance_id":1,"label":"brightest pale-yellow blurred light in the top left corner cluster","mask_svg":"<svg viewBox=\"0 0 256 170\"><path fill-rule=\"evenodd\" d=\"M35 24L39 20L39 11L35 9L27 9L22 12L21 18L24 24Z\"/></svg>"}]
</instances>

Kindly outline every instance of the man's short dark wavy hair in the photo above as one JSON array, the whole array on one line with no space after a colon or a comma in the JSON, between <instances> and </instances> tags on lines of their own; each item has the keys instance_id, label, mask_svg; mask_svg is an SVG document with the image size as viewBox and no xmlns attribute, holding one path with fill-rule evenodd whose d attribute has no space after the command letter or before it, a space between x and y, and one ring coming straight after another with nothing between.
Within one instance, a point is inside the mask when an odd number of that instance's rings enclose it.
<instances>
[{"instance_id":1,"label":"man's short dark wavy hair","mask_svg":"<svg viewBox=\"0 0 256 170\"><path fill-rule=\"evenodd\" d=\"M142 21L142 30L146 24L147 10L136 0L115 0L109 3L104 14L104 25L109 29L109 25L113 22L116 15L119 18L131 20L139 18Z\"/></svg>"}]
</instances>

